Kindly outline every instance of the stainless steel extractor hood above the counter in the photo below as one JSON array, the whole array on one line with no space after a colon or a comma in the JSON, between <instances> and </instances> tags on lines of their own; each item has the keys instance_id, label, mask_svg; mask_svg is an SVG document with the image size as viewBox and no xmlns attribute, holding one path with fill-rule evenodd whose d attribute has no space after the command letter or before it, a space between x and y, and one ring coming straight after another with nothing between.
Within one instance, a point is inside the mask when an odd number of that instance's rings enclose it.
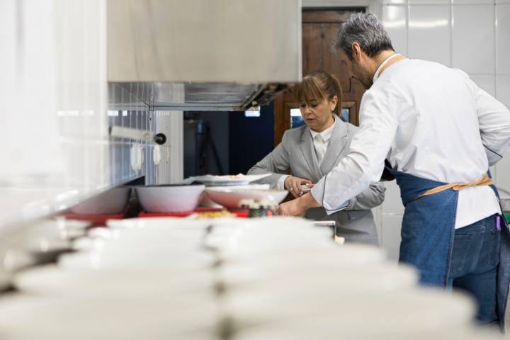
<instances>
[{"instance_id":1,"label":"stainless steel extractor hood above the counter","mask_svg":"<svg viewBox=\"0 0 510 340\"><path fill-rule=\"evenodd\" d=\"M108 0L108 81L152 108L268 103L301 58L300 0Z\"/></svg>"}]
</instances>

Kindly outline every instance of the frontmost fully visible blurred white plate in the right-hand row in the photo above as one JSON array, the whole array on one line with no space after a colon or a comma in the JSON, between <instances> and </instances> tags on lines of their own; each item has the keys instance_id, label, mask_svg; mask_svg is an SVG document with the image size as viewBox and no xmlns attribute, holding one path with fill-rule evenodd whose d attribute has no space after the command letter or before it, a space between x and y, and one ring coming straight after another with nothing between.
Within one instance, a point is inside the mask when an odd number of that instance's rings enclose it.
<instances>
[{"instance_id":1,"label":"frontmost fully visible blurred white plate in the right-hand row","mask_svg":"<svg viewBox=\"0 0 510 340\"><path fill-rule=\"evenodd\" d=\"M369 295L308 290L299 298L235 293L226 295L224 307L242 330L235 339L244 339L250 327L271 339L334 339L331 333L336 339L414 339L412 334L468 327L475 315L475 303L465 295L424 288Z\"/></svg>"}]
</instances>

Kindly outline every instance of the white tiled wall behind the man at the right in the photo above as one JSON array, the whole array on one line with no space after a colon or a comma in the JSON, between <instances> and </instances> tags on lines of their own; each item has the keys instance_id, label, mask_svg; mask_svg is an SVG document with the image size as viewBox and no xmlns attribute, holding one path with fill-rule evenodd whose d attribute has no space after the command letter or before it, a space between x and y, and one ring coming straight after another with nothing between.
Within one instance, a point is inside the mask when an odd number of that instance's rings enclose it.
<instances>
[{"instance_id":1,"label":"white tiled wall behind the man at the right","mask_svg":"<svg viewBox=\"0 0 510 340\"><path fill-rule=\"evenodd\" d=\"M463 69L482 89L510 107L510 0L382 0L378 13L397 52ZM510 152L492 169L510 191ZM395 182L385 183L380 240L398 257L404 207ZM508 196L502 193L502 196Z\"/></svg>"}]
</instances>

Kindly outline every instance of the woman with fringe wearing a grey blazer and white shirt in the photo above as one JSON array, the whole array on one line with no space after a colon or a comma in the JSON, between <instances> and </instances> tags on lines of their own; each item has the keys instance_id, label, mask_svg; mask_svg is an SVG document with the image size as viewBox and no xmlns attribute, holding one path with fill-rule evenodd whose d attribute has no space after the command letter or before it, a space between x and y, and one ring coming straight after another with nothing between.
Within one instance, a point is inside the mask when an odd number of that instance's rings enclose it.
<instances>
[{"instance_id":1,"label":"woman with fringe wearing a grey blazer and white shirt","mask_svg":"<svg viewBox=\"0 0 510 340\"><path fill-rule=\"evenodd\" d=\"M282 142L248 174L271 173L261 183L286 189L295 198L305 188L312 188L349 152L356 126L341 117L341 86L334 75L317 70L308 74L293 92L300 103L306 125L285 131ZM335 220L338 236L346 242L378 244L371 208L384 200L385 188L373 183L352 198L344 210L328 215L324 208L310 208L306 217L313 220Z\"/></svg>"}]
</instances>

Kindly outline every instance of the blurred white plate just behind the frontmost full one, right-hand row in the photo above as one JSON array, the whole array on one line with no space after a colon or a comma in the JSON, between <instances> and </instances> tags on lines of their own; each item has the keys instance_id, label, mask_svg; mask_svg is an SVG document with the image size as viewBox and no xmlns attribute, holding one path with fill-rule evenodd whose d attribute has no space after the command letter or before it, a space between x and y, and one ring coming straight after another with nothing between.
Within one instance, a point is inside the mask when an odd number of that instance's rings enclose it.
<instances>
[{"instance_id":1,"label":"blurred white plate just behind the frontmost full one, right-hand row","mask_svg":"<svg viewBox=\"0 0 510 340\"><path fill-rule=\"evenodd\" d=\"M380 294L418 284L416 271L395 263L365 266L339 266L336 263L295 263L289 266L258 266L227 264L217 268L218 278L232 290L250 292L272 291L275 294L300 295L319 289L341 294ZM374 285L377 282L377 285Z\"/></svg>"}]
</instances>

